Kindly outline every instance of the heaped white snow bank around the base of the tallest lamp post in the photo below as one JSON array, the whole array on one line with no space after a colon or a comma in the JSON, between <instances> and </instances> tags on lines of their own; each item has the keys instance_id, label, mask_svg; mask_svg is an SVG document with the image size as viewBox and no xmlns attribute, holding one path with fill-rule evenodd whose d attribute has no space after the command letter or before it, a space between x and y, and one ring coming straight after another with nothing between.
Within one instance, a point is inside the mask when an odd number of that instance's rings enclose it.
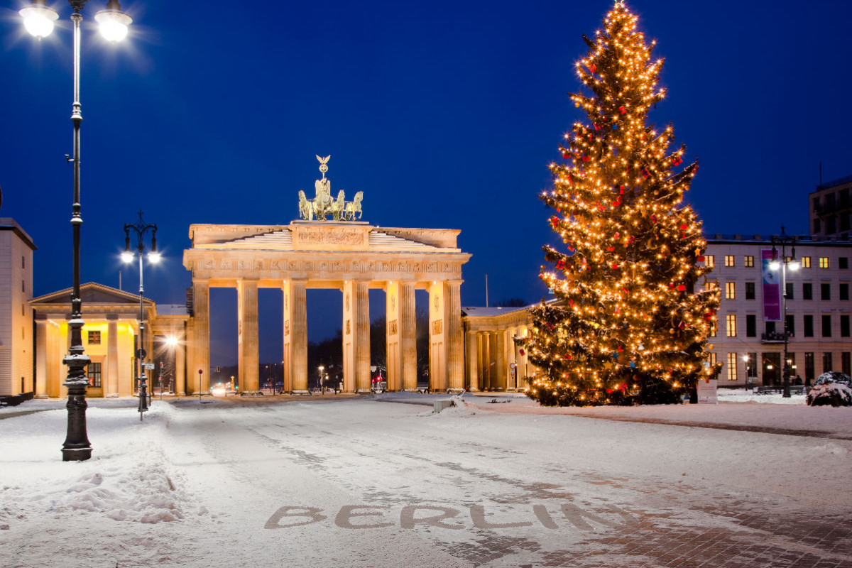
<instances>
[{"instance_id":1,"label":"heaped white snow bank around the base of the tallest lamp post","mask_svg":"<svg viewBox=\"0 0 852 568\"><path fill-rule=\"evenodd\" d=\"M162 445L174 410L157 404L140 423L135 408L107 406L87 411L89 439L97 444L86 462L59 462L57 434L64 432L65 410L3 422L0 525L14 529L15 521L28 515L148 524L184 517L188 497L181 490L183 479L166 465ZM18 456L30 461L15 462ZM26 483L20 482L24 479Z\"/></svg>"}]
</instances>

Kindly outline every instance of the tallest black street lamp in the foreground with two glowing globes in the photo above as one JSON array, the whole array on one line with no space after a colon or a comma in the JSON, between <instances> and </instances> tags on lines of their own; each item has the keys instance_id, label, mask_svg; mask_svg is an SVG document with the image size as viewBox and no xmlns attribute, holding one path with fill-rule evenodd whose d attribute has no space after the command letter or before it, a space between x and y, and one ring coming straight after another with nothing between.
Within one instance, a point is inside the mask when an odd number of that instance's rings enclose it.
<instances>
[{"instance_id":1,"label":"tallest black street lamp in the foreground with two glowing globes","mask_svg":"<svg viewBox=\"0 0 852 568\"><path fill-rule=\"evenodd\" d=\"M73 273L71 293L71 319L68 321L71 341L68 354L62 363L68 366L68 376L63 383L68 389L68 426L66 439L62 444L63 462L82 462L92 456L92 445L86 433L86 387L89 380L86 377L86 366L89 356L83 348L83 301L80 299L80 225L83 217L80 215L80 123L83 114L80 106L80 22L83 21L83 6L88 0L68 0L73 10L71 20L74 24L74 100L72 102L71 121L74 126L74 156L69 158L74 166L74 195L72 202L72 242L73 242ZM32 36L47 37L53 32L54 22L59 14L48 8L44 0L32 0L32 5L18 12L24 19L24 27ZM95 14L95 20L101 25L101 33L107 39L118 41L127 35L127 26L133 20L121 11L118 0L110 0L107 9ZM105 29L107 28L107 29ZM122 31L123 30L123 31ZM120 32L120 33L119 33Z\"/></svg>"}]
</instances>

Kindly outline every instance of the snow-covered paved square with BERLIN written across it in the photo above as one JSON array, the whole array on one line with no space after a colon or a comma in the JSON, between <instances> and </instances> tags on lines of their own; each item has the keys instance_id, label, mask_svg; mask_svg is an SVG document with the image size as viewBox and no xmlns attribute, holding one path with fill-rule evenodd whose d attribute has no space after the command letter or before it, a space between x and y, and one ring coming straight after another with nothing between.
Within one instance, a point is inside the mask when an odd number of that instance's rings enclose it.
<instances>
[{"instance_id":1,"label":"snow-covered paved square with BERLIN written across it","mask_svg":"<svg viewBox=\"0 0 852 568\"><path fill-rule=\"evenodd\" d=\"M87 462L29 401L0 410L0 566L852 566L852 409L750 396L92 400Z\"/></svg>"}]
</instances>

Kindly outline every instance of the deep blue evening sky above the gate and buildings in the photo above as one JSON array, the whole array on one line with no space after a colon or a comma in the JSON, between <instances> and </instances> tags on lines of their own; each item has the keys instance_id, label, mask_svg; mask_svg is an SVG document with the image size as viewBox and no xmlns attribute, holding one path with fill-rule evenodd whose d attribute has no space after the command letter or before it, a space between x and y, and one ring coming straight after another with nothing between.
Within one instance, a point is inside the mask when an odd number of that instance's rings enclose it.
<instances>
[{"instance_id":1,"label":"deep blue evening sky above the gate and buildings","mask_svg":"<svg viewBox=\"0 0 852 568\"><path fill-rule=\"evenodd\" d=\"M332 189L364 191L365 221L462 230L463 304L484 304L486 273L491 301L543 295L537 195L581 118L566 95L581 34L611 3L135 1L117 46L91 27L104 4L83 22L83 282L118 286L122 225L143 209L168 258L146 293L181 303L191 223L286 224L331 154ZM40 43L25 5L0 11L0 215L35 240L41 295L72 270L72 37L67 3ZM852 174L852 4L629 6L666 58L651 118L701 160L688 200L705 232L806 232L820 161L825 180Z\"/></svg>"}]
</instances>

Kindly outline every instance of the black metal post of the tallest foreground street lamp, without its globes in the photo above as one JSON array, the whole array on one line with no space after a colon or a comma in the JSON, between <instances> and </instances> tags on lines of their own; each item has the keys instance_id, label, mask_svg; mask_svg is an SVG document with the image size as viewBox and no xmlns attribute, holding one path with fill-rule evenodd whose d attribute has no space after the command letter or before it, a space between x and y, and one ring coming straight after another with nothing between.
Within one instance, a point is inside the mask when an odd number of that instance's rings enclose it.
<instances>
[{"instance_id":1,"label":"black metal post of the tallest foreground street lamp, without its globes","mask_svg":"<svg viewBox=\"0 0 852 568\"><path fill-rule=\"evenodd\" d=\"M62 444L63 462L82 462L92 456L92 445L86 433L86 387L89 379L86 377L86 365L89 356L83 348L83 301L80 298L80 226L83 217L80 215L80 123L83 114L80 110L80 22L83 16L82 2L72 2L74 13L74 101L72 104L71 120L74 125L74 201L72 204L71 227L73 233L73 288L71 293L71 320L68 328L71 332L71 346L62 363L68 366L68 376L63 384L68 388L68 425L66 439Z\"/></svg>"}]
</instances>

